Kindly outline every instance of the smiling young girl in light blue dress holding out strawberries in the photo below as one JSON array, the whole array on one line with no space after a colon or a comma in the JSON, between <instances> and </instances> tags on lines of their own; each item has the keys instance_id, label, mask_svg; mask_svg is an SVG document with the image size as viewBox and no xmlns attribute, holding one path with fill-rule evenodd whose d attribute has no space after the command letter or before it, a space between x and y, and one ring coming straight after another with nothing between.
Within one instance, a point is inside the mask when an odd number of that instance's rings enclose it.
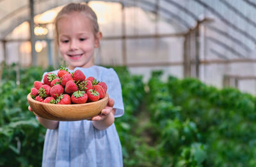
<instances>
[{"instance_id":1,"label":"smiling young girl in light blue dress holding out strawberries","mask_svg":"<svg viewBox=\"0 0 256 167\"><path fill-rule=\"evenodd\" d=\"M68 70L79 69L85 76L104 81L109 101L92 121L59 122L38 117L47 128L42 166L123 166L122 147L114 124L115 117L124 114L120 81L113 68L93 65L93 52L102 38L97 16L86 4L70 3L56 16L55 30Z\"/></svg>"}]
</instances>

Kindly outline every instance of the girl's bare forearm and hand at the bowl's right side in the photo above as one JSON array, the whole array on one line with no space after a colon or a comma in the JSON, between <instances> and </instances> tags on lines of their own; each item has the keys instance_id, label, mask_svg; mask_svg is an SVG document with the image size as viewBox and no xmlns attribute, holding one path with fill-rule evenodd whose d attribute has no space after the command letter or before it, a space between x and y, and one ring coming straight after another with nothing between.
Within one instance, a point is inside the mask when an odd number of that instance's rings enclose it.
<instances>
[{"instance_id":1,"label":"girl's bare forearm and hand at the bowl's right side","mask_svg":"<svg viewBox=\"0 0 256 167\"><path fill-rule=\"evenodd\" d=\"M113 106L115 101L111 98L108 100L108 106L102 109L101 114L92 118L92 124L96 129L104 130L112 125L115 121L115 109Z\"/></svg>"}]
</instances>

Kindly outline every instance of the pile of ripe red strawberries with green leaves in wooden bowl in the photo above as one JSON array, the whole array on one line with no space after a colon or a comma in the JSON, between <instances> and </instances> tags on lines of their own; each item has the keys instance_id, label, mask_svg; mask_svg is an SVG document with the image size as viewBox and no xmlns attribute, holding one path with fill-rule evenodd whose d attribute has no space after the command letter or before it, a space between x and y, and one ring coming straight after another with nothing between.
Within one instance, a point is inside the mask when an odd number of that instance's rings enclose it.
<instances>
[{"instance_id":1,"label":"pile of ripe red strawberries with green leaves in wooden bowl","mask_svg":"<svg viewBox=\"0 0 256 167\"><path fill-rule=\"evenodd\" d=\"M34 82L30 95L39 102L51 104L83 104L105 97L108 86L94 77L84 76L81 70L68 72L60 68L58 74L45 74L43 83Z\"/></svg>"}]
</instances>

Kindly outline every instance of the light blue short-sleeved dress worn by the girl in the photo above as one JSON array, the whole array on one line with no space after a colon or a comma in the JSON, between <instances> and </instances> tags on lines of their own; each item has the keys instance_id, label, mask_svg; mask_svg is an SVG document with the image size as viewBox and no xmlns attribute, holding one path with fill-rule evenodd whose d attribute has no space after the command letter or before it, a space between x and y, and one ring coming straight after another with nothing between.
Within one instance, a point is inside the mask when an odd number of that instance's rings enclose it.
<instances>
[{"instance_id":1,"label":"light blue short-sleeved dress worn by the girl","mask_svg":"<svg viewBox=\"0 0 256 167\"><path fill-rule=\"evenodd\" d=\"M115 70L100 66L77 67L74 70L77 69L84 72L86 77L93 76L107 84L107 93L115 100L113 106L116 108L115 117L122 116L124 114L122 89ZM54 71L56 74L57 72L58 70ZM104 131L95 129L88 120L60 122L58 129L47 129L42 166L123 166L122 147L115 123Z\"/></svg>"}]
</instances>

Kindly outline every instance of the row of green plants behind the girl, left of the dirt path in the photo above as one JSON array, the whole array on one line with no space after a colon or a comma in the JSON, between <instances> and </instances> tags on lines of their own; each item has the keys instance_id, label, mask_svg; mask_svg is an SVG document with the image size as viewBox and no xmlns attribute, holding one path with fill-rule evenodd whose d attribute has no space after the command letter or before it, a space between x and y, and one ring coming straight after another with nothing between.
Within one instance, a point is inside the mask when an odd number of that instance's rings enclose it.
<instances>
[{"instance_id":1,"label":"row of green plants behind the girl, left of the dirt path","mask_svg":"<svg viewBox=\"0 0 256 167\"><path fill-rule=\"evenodd\" d=\"M18 68L12 65L3 69L0 86L0 166L41 166L46 129L28 111L26 96L33 82L40 81L42 74L53 68ZM125 115L116 118L115 124L122 143L124 163L129 165L133 162L134 145L138 143L137 138L131 135L132 125L136 124L134 112L140 107L144 86L142 77L132 76L127 68L115 67L115 70L122 84L125 107Z\"/></svg>"}]
</instances>

